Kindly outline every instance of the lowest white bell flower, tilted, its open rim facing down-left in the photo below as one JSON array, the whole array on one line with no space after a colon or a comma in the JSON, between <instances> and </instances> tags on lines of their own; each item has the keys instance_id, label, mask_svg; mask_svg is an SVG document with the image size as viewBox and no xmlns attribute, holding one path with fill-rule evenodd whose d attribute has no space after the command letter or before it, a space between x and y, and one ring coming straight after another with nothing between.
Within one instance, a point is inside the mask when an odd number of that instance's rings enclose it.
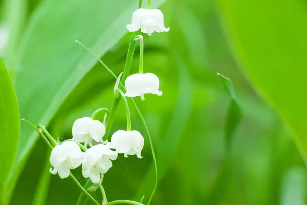
<instances>
[{"instance_id":1,"label":"lowest white bell flower, tilted, its open rim facing down-left","mask_svg":"<svg viewBox=\"0 0 307 205\"><path fill-rule=\"evenodd\" d=\"M117 158L117 152L110 150L106 145L95 145L86 150L82 162L82 174L90 177L93 183L98 183L100 173L106 173L111 167L111 160Z\"/></svg>"}]
</instances>

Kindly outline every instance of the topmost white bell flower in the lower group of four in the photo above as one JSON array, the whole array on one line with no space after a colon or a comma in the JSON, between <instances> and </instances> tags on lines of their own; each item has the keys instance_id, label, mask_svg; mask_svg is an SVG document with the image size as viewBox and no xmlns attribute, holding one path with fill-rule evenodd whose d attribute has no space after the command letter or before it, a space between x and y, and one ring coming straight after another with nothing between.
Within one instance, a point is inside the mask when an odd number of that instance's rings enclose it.
<instances>
[{"instance_id":1,"label":"topmost white bell flower in the lower group of four","mask_svg":"<svg viewBox=\"0 0 307 205\"><path fill-rule=\"evenodd\" d=\"M98 120L92 120L90 117L83 117L74 122L72 134L73 140L89 143L91 146L95 142L103 142L105 125Z\"/></svg>"}]
</instances>

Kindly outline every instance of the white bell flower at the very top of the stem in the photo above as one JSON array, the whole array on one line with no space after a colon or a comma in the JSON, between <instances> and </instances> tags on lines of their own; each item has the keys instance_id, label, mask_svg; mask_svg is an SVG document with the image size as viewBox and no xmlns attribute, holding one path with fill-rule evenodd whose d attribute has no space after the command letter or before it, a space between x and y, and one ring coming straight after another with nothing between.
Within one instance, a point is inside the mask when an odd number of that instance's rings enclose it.
<instances>
[{"instance_id":1,"label":"white bell flower at the very top of the stem","mask_svg":"<svg viewBox=\"0 0 307 205\"><path fill-rule=\"evenodd\" d=\"M141 28L143 33L151 35L154 31L168 32L169 27L165 28L163 13L159 9L138 9L132 14L132 24L127 25L130 32Z\"/></svg>"}]
</instances>

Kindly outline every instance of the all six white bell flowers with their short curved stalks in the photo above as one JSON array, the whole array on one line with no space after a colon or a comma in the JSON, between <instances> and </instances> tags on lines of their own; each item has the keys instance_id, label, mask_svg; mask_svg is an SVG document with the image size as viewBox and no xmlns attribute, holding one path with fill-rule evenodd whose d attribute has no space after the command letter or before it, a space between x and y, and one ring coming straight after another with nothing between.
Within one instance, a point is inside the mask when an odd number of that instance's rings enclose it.
<instances>
[{"instance_id":1,"label":"all six white bell flowers with their short curved stalks","mask_svg":"<svg viewBox=\"0 0 307 205\"><path fill-rule=\"evenodd\" d=\"M132 24L127 25L127 29L130 32L141 29L143 33L148 35L154 31L169 31L169 28L164 27L163 14L158 9L138 9L133 13ZM109 142L106 125L112 126L112 123L111 125L106 124L106 117L103 122L95 119L93 116L98 110L91 117L77 119L72 126L72 139L66 140L52 149L50 163L53 168L50 168L50 173L58 173L60 178L67 178L71 169L82 165L83 176L90 178L93 183L98 183L101 176L112 167L112 160L116 160L118 154L123 154L124 157L136 155L138 158L142 158L144 138L140 132L131 130L129 107L125 97L139 96L144 100L144 94L161 96L162 91L159 91L159 78L155 74L143 73L143 36L138 35L135 40L140 40L141 45L139 73L132 74L125 79L123 89L126 90L126 93L117 88L120 77L115 86L115 97L117 98L117 92L120 92L124 99L127 130L116 131Z\"/></svg>"}]
</instances>

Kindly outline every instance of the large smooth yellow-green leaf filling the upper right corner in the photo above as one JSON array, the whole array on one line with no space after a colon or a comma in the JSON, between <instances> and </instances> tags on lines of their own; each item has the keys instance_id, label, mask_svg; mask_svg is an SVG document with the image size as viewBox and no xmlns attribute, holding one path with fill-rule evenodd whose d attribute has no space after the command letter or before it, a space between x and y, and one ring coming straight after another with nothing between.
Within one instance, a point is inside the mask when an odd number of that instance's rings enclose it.
<instances>
[{"instance_id":1,"label":"large smooth yellow-green leaf filling the upper right corner","mask_svg":"<svg viewBox=\"0 0 307 205\"><path fill-rule=\"evenodd\" d=\"M238 63L260 96L287 122L306 161L306 2L216 2Z\"/></svg>"}]
</instances>

